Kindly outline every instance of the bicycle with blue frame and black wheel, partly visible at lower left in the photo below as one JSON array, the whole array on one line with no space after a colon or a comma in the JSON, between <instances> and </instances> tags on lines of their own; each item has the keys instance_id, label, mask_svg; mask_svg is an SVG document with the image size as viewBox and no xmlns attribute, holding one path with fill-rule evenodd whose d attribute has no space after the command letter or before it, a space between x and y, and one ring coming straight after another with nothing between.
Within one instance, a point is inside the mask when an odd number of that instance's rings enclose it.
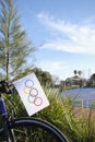
<instances>
[{"instance_id":1,"label":"bicycle with blue frame and black wheel, partly visible at lower left","mask_svg":"<svg viewBox=\"0 0 95 142\"><path fill-rule=\"evenodd\" d=\"M7 84L8 85L8 84ZM5 88L5 87L3 87ZM48 121L34 117L14 118L13 111L8 115L2 88L0 93L0 142L68 142L63 133ZM7 94L10 94L8 88Z\"/></svg>"}]
</instances>

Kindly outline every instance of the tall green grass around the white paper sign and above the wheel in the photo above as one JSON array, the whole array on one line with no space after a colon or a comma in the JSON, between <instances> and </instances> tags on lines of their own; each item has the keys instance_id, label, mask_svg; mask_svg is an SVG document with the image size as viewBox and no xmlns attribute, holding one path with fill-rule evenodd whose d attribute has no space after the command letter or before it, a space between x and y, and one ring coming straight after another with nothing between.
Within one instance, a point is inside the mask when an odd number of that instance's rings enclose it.
<instances>
[{"instance_id":1,"label":"tall green grass around the white paper sign and above the wheel","mask_svg":"<svg viewBox=\"0 0 95 142\"><path fill-rule=\"evenodd\" d=\"M54 123L59 128L70 142L95 142L95 118L94 109L91 108L86 118L85 109L81 115L75 114L75 106L70 97L60 97L59 93L54 90L45 90L50 105L34 115ZM15 117L27 116L25 107L19 95L4 96L10 113L14 108Z\"/></svg>"}]
</instances>

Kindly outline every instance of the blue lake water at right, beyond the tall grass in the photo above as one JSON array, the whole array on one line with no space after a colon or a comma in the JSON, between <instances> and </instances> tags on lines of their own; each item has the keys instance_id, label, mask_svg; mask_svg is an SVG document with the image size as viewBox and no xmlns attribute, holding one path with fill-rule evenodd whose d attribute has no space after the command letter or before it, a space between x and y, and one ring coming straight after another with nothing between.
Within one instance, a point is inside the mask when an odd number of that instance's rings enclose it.
<instances>
[{"instance_id":1,"label":"blue lake water at right, beyond the tall grass","mask_svg":"<svg viewBox=\"0 0 95 142\"><path fill-rule=\"evenodd\" d=\"M95 87L81 87L66 91L63 96L71 96L76 106L95 108Z\"/></svg>"}]
</instances>

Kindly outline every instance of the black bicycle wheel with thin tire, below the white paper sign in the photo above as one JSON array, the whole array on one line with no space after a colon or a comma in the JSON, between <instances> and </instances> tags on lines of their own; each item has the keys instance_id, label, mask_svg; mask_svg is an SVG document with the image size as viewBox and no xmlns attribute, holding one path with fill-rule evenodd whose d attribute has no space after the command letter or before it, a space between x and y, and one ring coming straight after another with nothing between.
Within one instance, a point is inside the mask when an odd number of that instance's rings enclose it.
<instances>
[{"instance_id":1,"label":"black bicycle wheel with thin tire, below the white paper sign","mask_svg":"<svg viewBox=\"0 0 95 142\"><path fill-rule=\"evenodd\" d=\"M15 141L12 137L10 142L69 142L62 132L54 125L38 118L27 117L14 119L9 126L13 130ZM3 142L3 128L0 129L0 142Z\"/></svg>"}]
</instances>

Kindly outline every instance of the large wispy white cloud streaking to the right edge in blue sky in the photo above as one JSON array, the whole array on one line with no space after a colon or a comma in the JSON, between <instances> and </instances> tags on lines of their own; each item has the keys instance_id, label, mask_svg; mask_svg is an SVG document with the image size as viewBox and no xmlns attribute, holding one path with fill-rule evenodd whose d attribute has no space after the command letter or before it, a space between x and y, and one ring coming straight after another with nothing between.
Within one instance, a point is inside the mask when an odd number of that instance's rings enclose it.
<instances>
[{"instance_id":1,"label":"large wispy white cloud streaking to the right edge in blue sky","mask_svg":"<svg viewBox=\"0 0 95 142\"><path fill-rule=\"evenodd\" d=\"M37 17L51 32L57 34L58 38L46 43L41 48L50 48L54 50L62 50L68 52L95 54L95 26L88 24L72 24L66 21L55 20L52 16L39 13ZM66 39L64 36L68 38Z\"/></svg>"}]
</instances>

